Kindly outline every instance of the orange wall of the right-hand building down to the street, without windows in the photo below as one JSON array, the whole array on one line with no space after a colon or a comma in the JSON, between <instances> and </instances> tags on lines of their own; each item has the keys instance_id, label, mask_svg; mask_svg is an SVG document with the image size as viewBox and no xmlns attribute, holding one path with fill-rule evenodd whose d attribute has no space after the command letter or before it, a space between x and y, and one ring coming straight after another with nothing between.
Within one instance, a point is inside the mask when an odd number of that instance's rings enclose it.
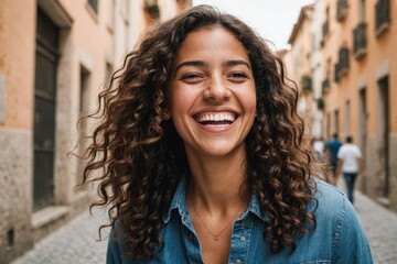
<instances>
[{"instance_id":1,"label":"orange wall of the right-hand building down to the street, without windows","mask_svg":"<svg viewBox=\"0 0 397 264\"><path fill-rule=\"evenodd\" d=\"M328 0L330 10L330 35L326 37L322 48L322 65L331 59L331 87L324 95L325 112L331 117L330 133L339 132L341 138L351 134L355 142L364 150L367 168L367 178L360 186L371 197L382 201L384 205L397 210L397 7L396 1L390 2L390 25L382 35L375 34L375 4L377 0L365 1L366 25L366 55L357 59L353 51L353 30L361 21L358 1L348 1L347 15L342 22L336 21L336 3ZM322 10L325 12L325 10ZM350 68L339 82L335 82L334 65L337 62L337 53L341 46L350 50ZM325 70L324 70L325 72ZM385 196L385 172L384 161L386 148L382 125L384 114L380 111L382 95L378 80L388 76L388 103L389 103L389 128L388 128L388 160L389 160L389 194ZM360 91L366 91L366 114L361 112ZM347 107L346 101L350 101ZM334 112L339 110L340 119L336 125ZM366 116L366 118L365 118ZM363 123L366 125L363 127ZM339 131L336 131L339 127Z\"/></svg>"}]
</instances>

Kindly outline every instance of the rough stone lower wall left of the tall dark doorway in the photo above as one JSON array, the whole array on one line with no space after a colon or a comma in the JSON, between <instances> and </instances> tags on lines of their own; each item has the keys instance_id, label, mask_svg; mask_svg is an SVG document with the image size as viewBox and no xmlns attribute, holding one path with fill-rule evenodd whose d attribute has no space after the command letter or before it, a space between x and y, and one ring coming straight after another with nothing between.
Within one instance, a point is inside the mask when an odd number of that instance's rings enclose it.
<instances>
[{"instance_id":1,"label":"rough stone lower wall left of the tall dark doorway","mask_svg":"<svg viewBox=\"0 0 397 264\"><path fill-rule=\"evenodd\" d=\"M33 246L32 133L0 129L0 263Z\"/></svg>"}]
</instances>

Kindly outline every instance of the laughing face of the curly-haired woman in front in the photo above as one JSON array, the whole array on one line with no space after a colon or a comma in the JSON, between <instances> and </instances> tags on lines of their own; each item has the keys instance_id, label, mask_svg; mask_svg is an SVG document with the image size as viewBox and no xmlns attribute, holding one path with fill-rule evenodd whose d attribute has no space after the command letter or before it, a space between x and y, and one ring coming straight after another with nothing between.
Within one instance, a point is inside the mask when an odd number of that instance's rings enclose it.
<instances>
[{"instance_id":1,"label":"laughing face of the curly-haired woman in front","mask_svg":"<svg viewBox=\"0 0 397 264\"><path fill-rule=\"evenodd\" d=\"M243 44L223 28L187 35L169 86L171 117L187 154L245 152L256 113L251 68Z\"/></svg>"}]
</instances>

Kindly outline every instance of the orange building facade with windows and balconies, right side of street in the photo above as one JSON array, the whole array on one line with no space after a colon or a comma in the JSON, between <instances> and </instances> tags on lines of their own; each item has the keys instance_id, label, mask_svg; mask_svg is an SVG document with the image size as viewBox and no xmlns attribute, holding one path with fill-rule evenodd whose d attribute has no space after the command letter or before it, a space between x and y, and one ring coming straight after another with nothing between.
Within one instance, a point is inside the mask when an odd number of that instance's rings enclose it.
<instances>
[{"instance_id":1,"label":"orange building facade with windows and balconies, right side of street","mask_svg":"<svg viewBox=\"0 0 397 264\"><path fill-rule=\"evenodd\" d=\"M397 2L393 0L315 0L310 33L313 87L321 87L316 96L323 101L322 135L353 135L366 167L360 188L395 211L396 21Z\"/></svg>"}]
</instances>

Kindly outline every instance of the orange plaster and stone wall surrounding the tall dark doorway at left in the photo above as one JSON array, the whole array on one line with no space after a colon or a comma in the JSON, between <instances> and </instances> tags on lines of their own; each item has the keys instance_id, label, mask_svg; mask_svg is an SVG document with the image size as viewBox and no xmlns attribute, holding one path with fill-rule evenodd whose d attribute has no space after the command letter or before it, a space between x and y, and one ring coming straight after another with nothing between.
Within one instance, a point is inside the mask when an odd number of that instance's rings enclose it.
<instances>
[{"instance_id":1,"label":"orange plaster and stone wall surrounding the tall dark doorway at left","mask_svg":"<svg viewBox=\"0 0 397 264\"><path fill-rule=\"evenodd\" d=\"M85 0L0 1L1 264L21 255L35 241L87 209L94 196L92 191L76 190L82 164L67 155L77 142L81 107L84 113L96 107L109 70L120 67L125 55L151 23L143 0L98 3L95 14ZM60 26L60 57L55 87L54 202L33 211L36 4ZM161 20L182 10L176 0L161 0L159 7ZM84 95L82 69L86 76Z\"/></svg>"}]
</instances>

